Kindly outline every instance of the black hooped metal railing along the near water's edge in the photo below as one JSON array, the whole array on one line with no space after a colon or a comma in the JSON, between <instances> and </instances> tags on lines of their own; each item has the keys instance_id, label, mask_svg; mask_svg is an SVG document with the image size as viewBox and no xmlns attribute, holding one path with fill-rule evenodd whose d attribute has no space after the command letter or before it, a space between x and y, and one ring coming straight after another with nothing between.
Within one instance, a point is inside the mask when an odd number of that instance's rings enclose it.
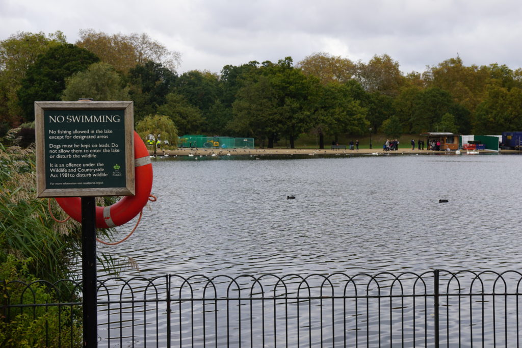
<instances>
[{"instance_id":1,"label":"black hooped metal railing along the near water's edge","mask_svg":"<svg viewBox=\"0 0 522 348\"><path fill-rule=\"evenodd\" d=\"M164 275L99 280L98 345L505 346L521 343L518 271ZM3 282L0 324L81 345L80 283ZM0 342L0 345L2 342Z\"/></svg>"}]
</instances>

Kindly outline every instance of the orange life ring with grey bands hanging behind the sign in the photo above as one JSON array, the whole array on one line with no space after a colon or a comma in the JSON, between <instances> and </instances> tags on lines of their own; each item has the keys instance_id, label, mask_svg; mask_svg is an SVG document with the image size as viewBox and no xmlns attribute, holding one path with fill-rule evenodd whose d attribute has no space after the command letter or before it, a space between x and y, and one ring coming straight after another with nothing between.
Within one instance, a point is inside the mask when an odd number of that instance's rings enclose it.
<instances>
[{"instance_id":1,"label":"orange life ring with grey bands hanging behind the sign","mask_svg":"<svg viewBox=\"0 0 522 348\"><path fill-rule=\"evenodd\" d=\"M96 207L96 227L109 229L132 220L145 207L152 189L152 163L147 146L134 132L135 196L125 196L112 206ZM57 197L60 207L70 217L81 222L81 198Z\"/></svg>"}]
</instances>

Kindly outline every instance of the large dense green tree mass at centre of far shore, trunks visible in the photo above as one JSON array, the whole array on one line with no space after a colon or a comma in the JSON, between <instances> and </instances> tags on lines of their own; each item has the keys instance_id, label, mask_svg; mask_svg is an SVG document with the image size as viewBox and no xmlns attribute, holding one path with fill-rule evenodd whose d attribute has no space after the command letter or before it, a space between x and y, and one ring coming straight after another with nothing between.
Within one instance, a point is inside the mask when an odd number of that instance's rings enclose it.
<instances>
[{"instance_id":1,"label":"large dense green tree mass at centre of far shore, trunks visible","mask_svg":"<svg viewBox=\"0 0 522 348\"><path fill-rule=\"evenodd\" d=\"M339 134L366 127L366 110L352 95L366 95L357 82L322 85L313 75L293 67L291 57L277 63L252 64L240 78L246 83L233 103L230 127L242 136L254 136L268 147L275 137L286 137L290 147L302 133ZM327 87L326 87L327 86ZM359 88L359 89L358 89Z\"/></svg>"}]
</instances>

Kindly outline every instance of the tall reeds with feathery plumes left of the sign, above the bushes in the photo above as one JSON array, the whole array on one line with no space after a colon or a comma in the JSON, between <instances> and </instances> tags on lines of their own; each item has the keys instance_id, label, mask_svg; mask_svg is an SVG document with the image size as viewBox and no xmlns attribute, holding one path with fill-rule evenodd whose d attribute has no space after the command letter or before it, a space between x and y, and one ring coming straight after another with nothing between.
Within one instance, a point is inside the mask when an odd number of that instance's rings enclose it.
<instances>
[{"instance_id":1,"label":"tall reeds with feathery plumes left of the sign, above the bushes","mask_svg":"<svg viewBox=\"0 0 522 348\"><path fill-rule=\"evenodd\" d=\"M79 257L79 224L55 222L46 199L36 197L34 148L0 143L0 264L7 255L27 259L39 279L70 277ZM64 217L53 202L53 214Z\"/></svg>"}]
</instances>

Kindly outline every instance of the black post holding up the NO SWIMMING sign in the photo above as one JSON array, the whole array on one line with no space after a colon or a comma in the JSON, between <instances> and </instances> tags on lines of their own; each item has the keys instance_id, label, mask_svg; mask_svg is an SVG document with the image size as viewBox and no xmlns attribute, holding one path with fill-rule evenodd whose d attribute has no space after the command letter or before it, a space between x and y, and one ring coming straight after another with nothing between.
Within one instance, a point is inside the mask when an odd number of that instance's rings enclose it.
<instances>
[{"instance_id":1,"label":"black post holding up the NO SWIMMING sign","mask_svg":"<svg viewBox=\"0 0 522 348\"><path fill-rule=\"evenodd\" d=\"M96 197L81 198L81 245L84 347L96 347L98 346Z\"/></svg>"}]
</instances>

